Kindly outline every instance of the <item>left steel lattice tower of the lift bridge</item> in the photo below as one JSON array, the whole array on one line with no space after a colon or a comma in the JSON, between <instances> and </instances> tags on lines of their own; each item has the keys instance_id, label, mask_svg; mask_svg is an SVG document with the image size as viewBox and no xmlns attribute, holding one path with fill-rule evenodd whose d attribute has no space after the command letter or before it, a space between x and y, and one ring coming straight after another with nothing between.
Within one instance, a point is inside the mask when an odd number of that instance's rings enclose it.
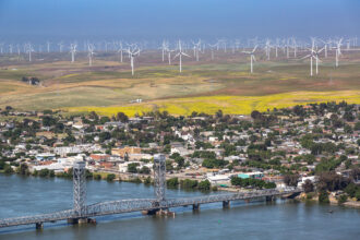
<instances>
[{"instance_id":1,"label":"left steel lattice tower of the lift bridge","mask_svg":"<svg viewBox=\"0 0 360 240\"><path fill-rule=\"evenodd\" d=\"M73 194L74 211L79 217L85 214L86 202L86 169L84 161L75 161L73 165Z\"/></svg>"}]
</instances>

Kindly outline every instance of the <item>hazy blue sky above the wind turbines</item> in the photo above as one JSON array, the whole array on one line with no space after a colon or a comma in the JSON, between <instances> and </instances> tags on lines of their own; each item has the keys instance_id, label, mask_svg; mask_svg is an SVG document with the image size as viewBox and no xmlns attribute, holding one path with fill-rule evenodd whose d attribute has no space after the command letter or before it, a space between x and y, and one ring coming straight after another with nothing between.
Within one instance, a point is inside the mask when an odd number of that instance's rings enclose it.
<instances>
[{"instance_id":1,"label":"hazy blue sky above the wind turbines","mask_svg":"<svg viewBox=\"0 0 360 240\"><path fill-rule=\"evenodd\" d=\"M0 39L360 36L360 0L0 0Z\"/></svg>"}]
</instances>

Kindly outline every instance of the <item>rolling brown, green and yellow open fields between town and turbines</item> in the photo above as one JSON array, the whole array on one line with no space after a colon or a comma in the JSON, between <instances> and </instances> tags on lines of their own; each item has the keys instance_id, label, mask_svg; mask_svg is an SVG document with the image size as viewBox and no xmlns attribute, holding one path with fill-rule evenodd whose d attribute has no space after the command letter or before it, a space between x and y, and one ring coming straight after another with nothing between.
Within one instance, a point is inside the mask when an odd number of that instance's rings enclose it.
<instances>
[{"instance_id":1,"label":"rolling brown, green and yellow open fields between town and turbines","mask_svg":"<svg viewBox=\"0 0 360 240\"><path fill-rule=\"evenodd\" d=\"M305 55L305 52L300 53ZM36 56L35 56L36 57ZM154 109L173 115L192 111L213 113L250 113L297 104L347 100L360 104L360 52L344 52L340 67L334 68L334 52L323 59L320 74L309 76L308 60L266 61L256 56L254 73L249 73L249 59L240 52L209 52L201 61L184 59L183 73L161 62L160 52L145 52L135 59L135 76L129 60L99 53L93 67L80 53L75 63L68 53L37 56L31 64L16 58L0 57L0 108L22 110L63 109L70 112L96 110L105 115L124 111L130 116ZM53 60L57 59L57 60ZM40 86L21 81L36 76ZM131 104L141 98L142 104Z\"/></svg>"}]
</instances>

